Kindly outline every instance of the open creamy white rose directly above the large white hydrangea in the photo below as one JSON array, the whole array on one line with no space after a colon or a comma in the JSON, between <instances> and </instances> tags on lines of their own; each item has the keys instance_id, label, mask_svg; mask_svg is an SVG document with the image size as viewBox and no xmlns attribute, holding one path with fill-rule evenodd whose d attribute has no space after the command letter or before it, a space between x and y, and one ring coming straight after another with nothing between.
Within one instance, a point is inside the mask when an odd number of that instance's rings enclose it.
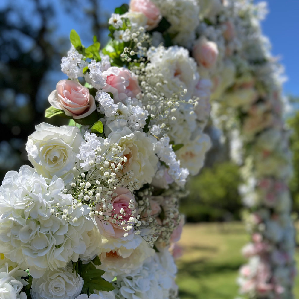
<instances>
[{"instance_id":1,"label":"open creamy white rose directly above the large white hydrangea","mask_svg":"<svg viewBox=\"0 0 299 299\"><path fill-rule=\"evenodd\" d=\"M35 129L28 137L26 150L37 173L50 179L56 175L70 181L76 155L81 142L84 142L79 129L74 126L55 127L48 123L41 123Z\"/></svg>"}]
</instances>

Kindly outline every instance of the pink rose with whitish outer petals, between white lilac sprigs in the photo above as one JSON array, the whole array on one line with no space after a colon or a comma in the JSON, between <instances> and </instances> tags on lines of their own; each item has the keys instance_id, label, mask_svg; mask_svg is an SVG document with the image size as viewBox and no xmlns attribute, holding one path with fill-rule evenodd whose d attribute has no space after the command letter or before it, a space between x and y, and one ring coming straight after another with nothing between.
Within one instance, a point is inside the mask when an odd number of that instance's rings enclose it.
<instances>
[{"instance_id":1,"label":"pink rose with whitish outer petals, between white lilac sprigs","mask_svg":"<svg viewBox=\"0 0 299 299\"><path fill-rule=\"evenodd\" d=\"M127 68L112 66L102 75L106 79L103 91L113 94L114 103L124 103L126 98L136 97L141 92L135 74Z\"/></svg>"}]
</instances>

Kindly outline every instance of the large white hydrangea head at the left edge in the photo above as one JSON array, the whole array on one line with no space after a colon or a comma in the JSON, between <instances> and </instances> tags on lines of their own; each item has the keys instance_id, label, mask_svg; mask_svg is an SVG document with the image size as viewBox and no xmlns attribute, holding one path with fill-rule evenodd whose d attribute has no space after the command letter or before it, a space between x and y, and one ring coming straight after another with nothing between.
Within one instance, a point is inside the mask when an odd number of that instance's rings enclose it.
<instances>
[{"instance_id":1,"label":"large white hydrangea head at the left edge","mask_svg":"<svg viewBox=\"0 0 299 299\"><path fill-rule=\"evenodd\" d=\"M87 206L71 208L73 198L64 188L62 179L47 182L27 165L8 172L0 187L0 252L36 278L77 261L86 250L82 234L94 226ZM59 206L69 207L78 221L68 224L52 214Z\"/></svg>"}]
</instances>

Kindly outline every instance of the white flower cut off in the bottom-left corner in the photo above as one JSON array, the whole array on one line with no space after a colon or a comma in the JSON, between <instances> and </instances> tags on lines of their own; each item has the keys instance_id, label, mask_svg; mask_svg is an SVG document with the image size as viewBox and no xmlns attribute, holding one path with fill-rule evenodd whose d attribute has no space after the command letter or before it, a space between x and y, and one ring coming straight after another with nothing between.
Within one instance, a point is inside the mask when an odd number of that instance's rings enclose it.
<instances>
[{"instance_id":1,"label":"white flower cut off in the bottom-left corner","mask_svg":"<svg viewBox=\"0 0 299 299\"><path fill-rule=\"evenodd\" d=\"M22 292L23 286L28 282L21 279L28 274L16 267L9 271L8 264L0 268L0 298L1 299L26 299L25 292Z\"/></svg>"}]
</instances>

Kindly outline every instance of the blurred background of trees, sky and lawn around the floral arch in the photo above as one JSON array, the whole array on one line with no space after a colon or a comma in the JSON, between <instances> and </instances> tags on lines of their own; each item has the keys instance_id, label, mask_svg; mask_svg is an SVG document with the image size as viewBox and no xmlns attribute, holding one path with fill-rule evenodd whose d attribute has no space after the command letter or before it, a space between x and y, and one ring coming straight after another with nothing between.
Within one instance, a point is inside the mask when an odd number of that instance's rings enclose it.
<instances>
[{"instance_id":1,"label":"blurred background of trees, sky and lawn around the floral arch","mask_svg":"<svg viewBox=\"0 0 299 299\"><path fill-rule=\"evenodd\" d=\"M115 7L129 1L100 0L1 0L0 1L0 180L9 170L27 161L25 143L42 121L60 126L63 119L45 119L48 95L66 76L60 60L70 48L69 33L75 29L83 45L96 35L107 42L106 24ZM299 213L299 84L298 0L269 0L263 32L273 45L274 56L286 67L289 78L284 94L286 122L291 129L294 178L294 218ZM240 220L238 166L228 159L226 143L209 127L213 149L206 165L189 184L181 204L186 215L181 246L187 253L178 260L181 298L234 298L237 270L244 260L240 249L248 241ZM194 237L196 236L196 237ZM225 275L223 275L225 274ZM299 289L296 290L299 298Z\"/></svg>"}]
</instances>

